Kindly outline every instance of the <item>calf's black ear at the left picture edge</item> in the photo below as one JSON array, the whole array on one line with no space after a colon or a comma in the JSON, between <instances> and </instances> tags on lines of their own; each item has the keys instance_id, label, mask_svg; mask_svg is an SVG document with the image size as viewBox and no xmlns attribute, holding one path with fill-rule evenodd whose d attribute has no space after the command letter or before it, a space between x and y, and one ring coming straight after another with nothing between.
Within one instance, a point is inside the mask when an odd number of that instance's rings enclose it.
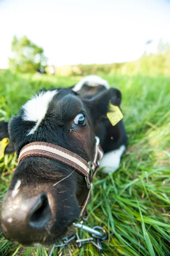
<instances>
[{"instance_id":1,"label":"calf's black ear at the left picture edge","mask_svg":"<svg viewBox=\"0 0 170 256\"><path fill-rule=\"evenodd\" d=\"M8 132L8 122L1 121L0 122L0 142L4 139L9 139L9 132ZM9 139L8 145L6 145L5 154L12 154L15 151L13 143Z\"/></svg>"}]
</instances>

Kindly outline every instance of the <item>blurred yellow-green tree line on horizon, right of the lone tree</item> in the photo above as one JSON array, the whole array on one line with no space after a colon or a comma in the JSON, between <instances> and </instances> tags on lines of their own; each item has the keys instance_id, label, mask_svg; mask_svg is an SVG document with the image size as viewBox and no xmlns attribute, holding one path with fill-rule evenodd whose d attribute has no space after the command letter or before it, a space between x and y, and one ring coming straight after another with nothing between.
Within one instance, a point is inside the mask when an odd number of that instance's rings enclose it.
<instances>
[{"instance_id":1,"label":"blurred yellow-green tree line on horizon, right of the lone tree","mask_svg":"<svg viewBox=\"0 0 170 256\"><path fill-rule=\"evenodd\" d=\"M156 53L148 54L144 52L137 61L55 67L55 73L58 76L85 76L98 73L110 75L141 74L143 76L170 76L170 45L160 41Z\"/></svg>"}]
</instances>

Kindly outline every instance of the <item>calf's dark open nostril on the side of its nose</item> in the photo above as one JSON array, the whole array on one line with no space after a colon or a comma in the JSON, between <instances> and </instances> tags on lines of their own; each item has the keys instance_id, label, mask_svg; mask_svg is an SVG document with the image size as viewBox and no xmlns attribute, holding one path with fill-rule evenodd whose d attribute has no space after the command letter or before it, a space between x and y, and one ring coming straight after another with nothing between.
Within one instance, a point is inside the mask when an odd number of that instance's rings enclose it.
<instances>
[{"instance_id":1,"label":"calf's dark open nostril on the side of its nose","mask_svg":"<svg viewBox=\"0 0 170 256\"><path fill-rule=\"evenodd\" d=\"M52 213L49 207L47 195L42 193L29 214L29 225L34 228L43 228L51 219Z\"/></svg>"}]
</instances>

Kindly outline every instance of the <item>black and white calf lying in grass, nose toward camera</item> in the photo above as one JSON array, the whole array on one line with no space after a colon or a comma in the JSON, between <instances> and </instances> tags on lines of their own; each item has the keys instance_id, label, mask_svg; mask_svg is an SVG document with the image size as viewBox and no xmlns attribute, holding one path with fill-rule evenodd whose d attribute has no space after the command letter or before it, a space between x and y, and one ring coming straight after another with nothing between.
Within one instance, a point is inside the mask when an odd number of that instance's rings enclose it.
<instances>
[{"instance_id":1,"label":"black and white calf lying in grass, nose toward camera","mask_svg":"<svg viewBox=\"0 0 170 256\"><path fill-rule=\"evenodd\" d=\"M9 122L10 143L17 155L36 141L59 145L90 162L98 136L102 170L114 172L127 135L122 120L112 126L107 119L110 102L119 107L121 92L98 76L87 76L71 88L41 91ZM70 166L27 157L18 164L3 201L3 233L23 245L54 244L74 229L87 194L84 177Z\"/></svg>"}]
</instances>

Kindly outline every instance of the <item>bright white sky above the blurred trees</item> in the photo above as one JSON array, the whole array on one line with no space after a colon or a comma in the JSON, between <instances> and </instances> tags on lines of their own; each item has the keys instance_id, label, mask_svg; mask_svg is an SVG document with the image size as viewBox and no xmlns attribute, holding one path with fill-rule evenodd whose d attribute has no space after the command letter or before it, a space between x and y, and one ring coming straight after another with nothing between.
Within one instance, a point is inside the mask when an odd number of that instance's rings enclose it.
<instances>
[{"instance_id":1,"label":"bright white sky above the blurred trees","mask_svg":"<svg viewBox=\"0 0 170 256\"><path fill-rule=\"evenodd\" d=\"M43 47L49 65L133 61L170 43L170 0L0 0L0 68L14 35Z\"/></svg>"}]
</instances>

